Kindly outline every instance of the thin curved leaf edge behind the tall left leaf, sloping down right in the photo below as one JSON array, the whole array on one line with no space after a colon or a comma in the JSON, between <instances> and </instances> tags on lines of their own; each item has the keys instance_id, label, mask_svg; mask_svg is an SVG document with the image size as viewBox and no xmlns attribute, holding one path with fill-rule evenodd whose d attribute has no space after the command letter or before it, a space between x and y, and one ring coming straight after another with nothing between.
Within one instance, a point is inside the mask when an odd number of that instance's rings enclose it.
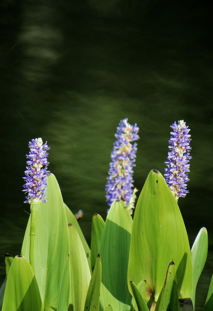
<instances>
[{"instance_id":1,"label":"thin curved leaf edge behind the tall left leaf, sloping down right","mask_svg":"<svg viewBox=\"0 0 213 311\"><path fill-rule=\"evenodd\" d=\"M78 221L75 218L75 215L70 211L69 207L64 203L65 211L66 211L66 219L67 223L70 223L74 225L76 231L78 232L79 238L81 239L81 243L84 246L84 251L87 257L87 261L89 264L90 272L92 273L92 268L91 268L91 258L90 258L90 248L87 244L86 239L84 238L84 234L79 226Z\"/></svg>"}]
</instances>

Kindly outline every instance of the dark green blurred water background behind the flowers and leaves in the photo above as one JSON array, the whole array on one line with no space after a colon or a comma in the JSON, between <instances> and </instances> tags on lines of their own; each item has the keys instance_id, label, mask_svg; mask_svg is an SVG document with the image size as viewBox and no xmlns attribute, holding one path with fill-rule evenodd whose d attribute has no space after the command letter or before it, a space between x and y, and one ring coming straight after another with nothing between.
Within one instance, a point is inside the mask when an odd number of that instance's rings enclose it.
<instances>
[{"instance_id":1,"label":"dark green blurred water background behind the flowers and leaves","mask_svg":"<svg viewBox=\"0 0 213 311\"><path fill-rule=\"evenodd\" d=\"M209 253L197 290L202 310L213 273L212 32L203 1L2 0L0 4L0 283L4 254L20 254L29 218L22 192L28 142L48 141L49 170L90 244L118 123L139 126L134 186L164 174L170 125L191 129L189 193L179 199L190 247L205 226ZM137 193L139 195L139 193Z\"/></svg>"}]
</instances>

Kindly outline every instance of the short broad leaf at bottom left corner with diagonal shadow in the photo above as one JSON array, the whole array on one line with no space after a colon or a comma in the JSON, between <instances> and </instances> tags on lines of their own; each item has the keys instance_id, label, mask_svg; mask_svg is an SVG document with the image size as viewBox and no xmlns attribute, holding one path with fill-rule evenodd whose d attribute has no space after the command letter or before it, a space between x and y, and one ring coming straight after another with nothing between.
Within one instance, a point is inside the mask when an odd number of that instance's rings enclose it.
<instances>
[{"instance_id":1,"label":"short broad leaf at bottom left corner with diagonal shadow","mask_svg":"<svg viewBox=\"0 0 213 311\"><path fill-rule=\"evenodd\" d=\"M16 256L11 263L2 311L42 311L39 287L26 258Z\"/></svg>"}]
</instances>

